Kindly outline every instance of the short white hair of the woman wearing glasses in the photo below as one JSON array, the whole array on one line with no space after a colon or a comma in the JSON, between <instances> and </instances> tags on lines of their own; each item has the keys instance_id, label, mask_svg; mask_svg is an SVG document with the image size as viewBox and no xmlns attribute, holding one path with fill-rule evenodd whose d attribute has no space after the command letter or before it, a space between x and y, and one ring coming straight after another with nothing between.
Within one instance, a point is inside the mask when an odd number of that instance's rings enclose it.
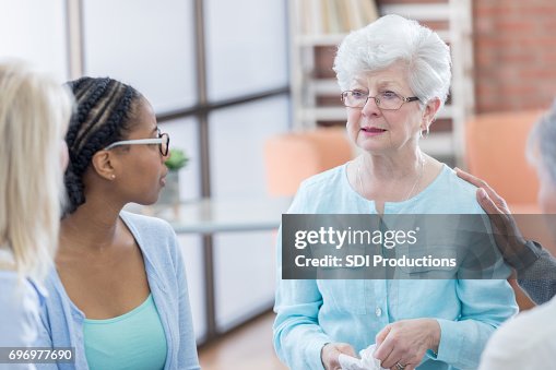
<instances>
[{"instance_id":1,"label":"short white hair of the woman wearing glasses","mask_svg":"<svg viewBox=\"0 0 556 370\"><path fill-rule=\"evenodd\" d=\"M338 49L334 71L342 91L360 73L404 62L413 93L423 103L443 104L451 80L450 49L440 37L416 21L385 15L347 35Z\"/></svg>"}]
</instances>

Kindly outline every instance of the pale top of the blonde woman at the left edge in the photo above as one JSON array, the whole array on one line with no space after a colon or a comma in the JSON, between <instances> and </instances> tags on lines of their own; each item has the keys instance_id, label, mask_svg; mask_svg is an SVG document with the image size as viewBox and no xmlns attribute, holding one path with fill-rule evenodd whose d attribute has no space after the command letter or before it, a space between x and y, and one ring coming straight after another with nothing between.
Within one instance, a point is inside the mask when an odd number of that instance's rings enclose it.
<instances>
[{"instance_id":1,"label":"pale top of the blonde woman at the left edge","mask_svg":"<svg viewBox=\"0 0 556 370\"><path fill-rule=\"evenodd\" d=\"M0 265L13 256L0 249ZM0 270L0 347L32 347L37 339L39 296L36 287L15 271ZM29 363L0 363L0 370L35 369Z\"/></svg>"}]
</instances>

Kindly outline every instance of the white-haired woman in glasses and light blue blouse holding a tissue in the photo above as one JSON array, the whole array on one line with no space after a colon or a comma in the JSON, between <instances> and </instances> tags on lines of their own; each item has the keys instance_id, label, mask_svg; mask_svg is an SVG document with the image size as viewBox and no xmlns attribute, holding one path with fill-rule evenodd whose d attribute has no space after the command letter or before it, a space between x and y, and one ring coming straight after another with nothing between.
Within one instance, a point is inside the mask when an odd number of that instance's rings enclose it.
<instances>
[{"instance_id":1,"label":"white-haired woman in glasses and light blue blouse holding a tissue","mask_svg":"<svg viewBox=\"0 0 556 370\"><path fill-rule=\"evenodd\" d=\"M306 180L288 212L484 214L475 188L418 145L446 100L450 62L437 34L398 15L350 34L334 70L362 154ZM279 277L274 310L274 347L293 369L339 369L340 354L375 342L383 368L472 369L517 306L505 279Z\"/></svg>"}]
</instances>

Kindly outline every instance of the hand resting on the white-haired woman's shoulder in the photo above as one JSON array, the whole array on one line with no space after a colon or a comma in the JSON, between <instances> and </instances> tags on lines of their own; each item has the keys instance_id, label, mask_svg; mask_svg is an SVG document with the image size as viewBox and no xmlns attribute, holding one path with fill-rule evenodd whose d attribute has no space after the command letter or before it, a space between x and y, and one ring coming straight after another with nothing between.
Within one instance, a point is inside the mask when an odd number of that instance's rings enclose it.
<instances>
[{"instance_id":1,"label":"hand resting on the white-haired woman's shoulder","mask_svg":"<svg viewBox=\"0 0 556 370\"><path fill-rule=\"evenodd\" d=\"M512 259L522 253L528 247L525 246L527 240L521 235L516 220L511 216L508 204L488 183L480 178L459 168L456 168L456 174L478 188L476 192L477 202L490 218L498 249L502 253L504 259L511 264ZM512 265L512 267L518 266Z\"/></svg>"}]
</instances>

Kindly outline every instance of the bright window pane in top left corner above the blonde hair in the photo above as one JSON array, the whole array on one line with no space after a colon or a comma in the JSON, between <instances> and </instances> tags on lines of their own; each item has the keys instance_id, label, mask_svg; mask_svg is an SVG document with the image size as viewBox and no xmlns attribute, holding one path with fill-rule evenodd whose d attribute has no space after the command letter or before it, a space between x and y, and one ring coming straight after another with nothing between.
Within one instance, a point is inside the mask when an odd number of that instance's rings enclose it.
<instances>
[{"instance_id":1,"label":"bright window pane in top left corner above the blonde hair","mask_svg":"<svg viewBox=\"0 0 556 370\"><path fill-rule=\"evenodd\" d=\"M25 59L69 77L64 0L0 0L0 58Z\"/></svg>"}]
</instances>

